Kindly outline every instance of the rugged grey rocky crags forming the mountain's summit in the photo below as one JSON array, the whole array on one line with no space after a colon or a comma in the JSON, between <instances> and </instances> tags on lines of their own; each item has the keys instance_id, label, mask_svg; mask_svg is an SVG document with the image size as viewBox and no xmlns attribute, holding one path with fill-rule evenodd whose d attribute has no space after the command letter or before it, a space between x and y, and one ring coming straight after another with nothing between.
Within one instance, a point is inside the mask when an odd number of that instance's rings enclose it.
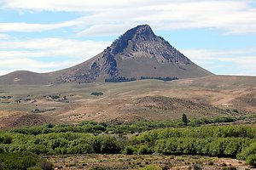
<instances>
[{"instance_id":1,"label":"rugged grey rocky crags forming the mountain's summit","mask_svg":"<svg viewBox=\"0 0 256 170\"><path fill-rule=\"evenodd\" d=\"M139 55L137 55L139 54ZM170 62L176 65L188 65L191 61L173 48L162 37L154 35L148 25L137 26L128 30L115 40L112 45L104 50L105 63L103 70L110 76L117 74L117 62L115 56L122 55L123 59L148 56L159 63Z\"/></svg>"}]
</instances>

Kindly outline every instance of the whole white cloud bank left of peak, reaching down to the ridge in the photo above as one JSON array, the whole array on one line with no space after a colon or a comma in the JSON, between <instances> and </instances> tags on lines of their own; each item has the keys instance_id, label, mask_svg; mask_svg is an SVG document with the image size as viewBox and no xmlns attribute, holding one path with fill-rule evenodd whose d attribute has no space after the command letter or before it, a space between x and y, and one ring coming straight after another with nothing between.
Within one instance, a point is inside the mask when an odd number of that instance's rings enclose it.
<instances>
[{"instance_id":1,"label":"whole white cloud bank left of peak, reaching down to the ridge","mask_svg":"<svg viewBox=\"0 0 256 170\"><path fill-rule=\"evenodd\" d=\"M0 74L17 70L60 70L90 59L109 44L61 38L1 40Z\"/></svg>"}]
</instances>

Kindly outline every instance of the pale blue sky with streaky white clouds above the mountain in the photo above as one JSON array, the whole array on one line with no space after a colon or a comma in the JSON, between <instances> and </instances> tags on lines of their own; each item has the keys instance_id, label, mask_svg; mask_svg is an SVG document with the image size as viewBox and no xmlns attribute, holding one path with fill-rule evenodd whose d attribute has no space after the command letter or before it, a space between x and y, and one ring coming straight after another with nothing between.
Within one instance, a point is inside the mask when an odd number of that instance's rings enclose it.
<instances>
[{"instance_id":1,"label":"pale blue sky with streaky white clouds above the mountain","mask_svg":"<svg viewBox=\"0 0 256 170\"><path fill-rule=\"evenodd\" d=\"M256 76L253 0L0 0L0 75L79 64L142 24L215 74Z\"/></svg>"}]
</instances>

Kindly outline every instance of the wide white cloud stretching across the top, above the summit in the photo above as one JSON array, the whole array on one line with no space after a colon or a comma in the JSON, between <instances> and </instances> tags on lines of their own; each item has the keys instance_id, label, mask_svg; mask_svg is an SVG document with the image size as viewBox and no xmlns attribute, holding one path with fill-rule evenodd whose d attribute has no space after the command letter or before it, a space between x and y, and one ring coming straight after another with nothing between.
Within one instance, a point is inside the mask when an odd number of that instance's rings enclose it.
<instances>
[{"instance_id":1,"label":"wide white cloud stretching across the top, above the summit","mask_svg":"<svg viewBox=\"0 0 256 170\"><path fill-rule=\"evenodd\" d=\"M229 34L256 33L252 1L238 0L5 0L3 8L32 11L86 12L84 16L55 24L2 23L0 31L48 31L74 27L79 36L117 35L127 26L148 23L157 30L217 28Z\"/></svg>"}]
</instances>

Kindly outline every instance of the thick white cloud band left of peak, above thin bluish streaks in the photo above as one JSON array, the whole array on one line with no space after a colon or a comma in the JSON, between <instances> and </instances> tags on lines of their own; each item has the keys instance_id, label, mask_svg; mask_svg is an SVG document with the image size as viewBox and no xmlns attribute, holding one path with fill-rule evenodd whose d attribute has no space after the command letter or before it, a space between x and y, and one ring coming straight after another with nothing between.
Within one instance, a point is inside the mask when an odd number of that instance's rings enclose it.
<instances>
[{"instance_id":1,"label":"thick white cloud band left of peak, above thin bluish streaks","mask_svg":"<svg viewBox=\"0 0 256 170\"><path fill-rule=\"evenodd\" d=\"M61 38L0 41L0 59L67 57L89 59L102 52L110 42L79 41Z\"/></svg>"}]
</instances>

